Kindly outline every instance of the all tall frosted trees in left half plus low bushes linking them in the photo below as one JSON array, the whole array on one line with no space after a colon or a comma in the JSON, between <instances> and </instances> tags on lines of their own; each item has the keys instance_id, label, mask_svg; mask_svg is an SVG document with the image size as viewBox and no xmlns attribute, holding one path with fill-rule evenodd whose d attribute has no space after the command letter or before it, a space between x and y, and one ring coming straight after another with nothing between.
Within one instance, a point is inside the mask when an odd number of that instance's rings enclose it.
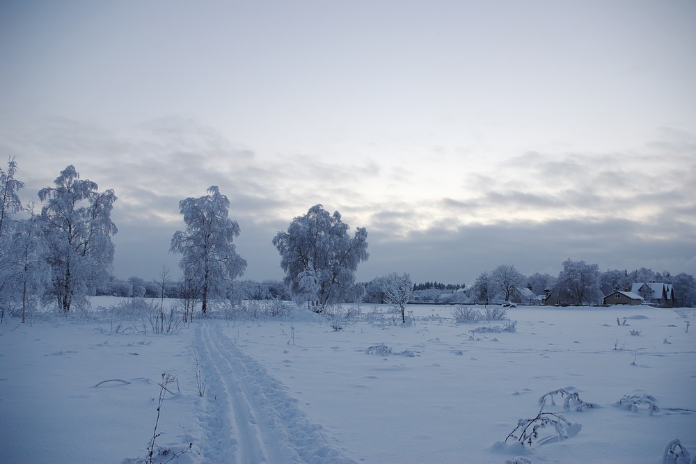
<instances>
[{"instance_id":1,"label":"all tall frosted trees in left half plus low bushes linking them","mask_svg":"<svg viewBox=\"0 0 696 464\"><path fill-rule=\"evenodd\" d=\"M132 277L115 282L110 271L118 231L111 221L116 202L113 190L98 191L95 182L80 179L74 166L61 171L54 186L40 189L40 212L35 204L22 205L18 192L24 183L15 175L17 163L8 160L0 168L0 317L6 308L22 308L54 302L70 312L87 302L87 296L111 294L165 298L175 295L200 303L205 314L212 301L227 298L286 298L287 289L296 301L317 312L327 305L359 301L364 287L355 282L358 264L367 253L367 231L349 226L322 205L294 218L287 232L272 240L286 272L283 285L276 282L236 282L244 274L246 259L237 253L237 221L229 217L230 201L217 186L207 195L179 203L185 230L173 234L171 253L181 255L182 280L171 282L163 267L154 282ZM24 218L18 218L22 211ZM411 282L409 280L409 290ZM235 288L236 287L236 288Z\"/></svg>"}]
</instances>

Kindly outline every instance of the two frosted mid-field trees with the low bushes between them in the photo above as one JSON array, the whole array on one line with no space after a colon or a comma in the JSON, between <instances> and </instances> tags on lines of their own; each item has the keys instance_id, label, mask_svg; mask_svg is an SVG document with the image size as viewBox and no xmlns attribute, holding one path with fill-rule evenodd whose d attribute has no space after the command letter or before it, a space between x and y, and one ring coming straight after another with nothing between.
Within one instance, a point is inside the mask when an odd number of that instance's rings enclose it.
<instances>
[{"instance_id":1,"label":"two frosted mid-field trees with the low bushes between them","mask_svg":"<svg viewBox=\"0 0 696 464\"><path fill-rule=\"evenodd\" d=\"M244 274L246 259L233 243L239 225L228 217L230 202L217 186L209 195L187 198L179 204L186 231L177 231L171 240L171 252L180 253L183 287L193 289L205 314L209 301L223 298L267 298L286 296L285 291L268 285L232 285ZM359 301L364 288L356 284L358 264L367 260L367 231L357 227L353 236L341 221L338 211L329 214L322 205L292 220L286 232L278 232L271 243L280 253L283 280L298 303L323 312L327 305ZM409 289L410 289L409 280ZM404 303L405 304L405 303Z\"/></svg>"}]
</instances>

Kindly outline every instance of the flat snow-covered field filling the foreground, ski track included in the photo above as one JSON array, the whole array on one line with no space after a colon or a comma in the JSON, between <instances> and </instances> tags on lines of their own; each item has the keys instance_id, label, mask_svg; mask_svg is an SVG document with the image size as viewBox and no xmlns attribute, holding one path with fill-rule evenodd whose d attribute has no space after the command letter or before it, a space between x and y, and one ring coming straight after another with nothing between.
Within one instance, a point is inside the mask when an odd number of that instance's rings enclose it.
<instances>
[{"instance_id":1,"label":"flat snow-covered field filling the foreground, ski track included","mask_svg":"<svg viewBox=\"0 0 696 464\"><path fill-rule=\"evenodd\" d=\"M175 335L6 318L0 462L147 462L163 372L177 381L156 445L193 444L173 463L662 463L674 439L696 454L696 329L685 330L695 310L518 307L508 310L515 333L473 333L501 323L457 325L452 307L419 305L404 327L379 309L339 331L296 310L195 321ZM594 407L564 411L557 394L544 412L581 428L532 447L505 443L558 389ZM633 395L634 410L617 406Z\"/></svg>"}]
</instances>

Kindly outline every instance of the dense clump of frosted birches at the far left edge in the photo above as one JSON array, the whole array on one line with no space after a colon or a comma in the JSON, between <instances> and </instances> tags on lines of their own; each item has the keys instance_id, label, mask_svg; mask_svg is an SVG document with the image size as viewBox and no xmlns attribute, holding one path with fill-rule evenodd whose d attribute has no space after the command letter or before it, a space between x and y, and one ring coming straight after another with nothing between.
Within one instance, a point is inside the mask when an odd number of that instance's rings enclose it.
<instances>
[{"instance_id":1,"label":"dense clump of frosted birches at the far left edge","mask_svg":"<svg viewBox=\"0 0 696 464\"><path fill-rule=\"evenodd\" d=\"M38 192L43 202L38 212L35 203L20 202L24 182L16 173L14 159L7 170L0 168L0 310L21 308L24 320L26 310L43 299L68 312L108 278L116 195L100 193L97 184L68 166L54 186ZM15 217L19 211L28 217Z\"/></svg>"}]
</instances>

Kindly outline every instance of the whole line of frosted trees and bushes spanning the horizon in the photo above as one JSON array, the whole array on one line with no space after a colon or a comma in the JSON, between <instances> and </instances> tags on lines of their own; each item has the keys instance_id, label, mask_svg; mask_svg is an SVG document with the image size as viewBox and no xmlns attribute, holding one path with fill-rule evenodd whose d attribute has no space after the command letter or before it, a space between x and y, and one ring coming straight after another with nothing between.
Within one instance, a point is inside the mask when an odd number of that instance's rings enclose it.
<instances>
[{"instance_id":1,"label":"whole line of frosted trees and bushes spanning the horizon","mask_svg":"<svg viewBox=\"0 0 696 464\"><path fill-rule=\"evenodd\" d=\"M603 295L626 289L632 282L659 282L674 285L683 306L696 305L696 283L686 273L671 275L649 269L599 271L597 264L567 259L557 276L534 273L522 275L511 264L501 264L481 273L473 285L445 285L438 282L413 284L408 274L390 273L367 283L356 283L358 265L367 253L367 231L342 222L338 211L329 214L322 205L292 220L271 243L280 254L285 271L282 283L237 281L246 270L246 259L237 253L234 239L239 237L237 221L229 217L230 201L217 186L207 195L186 198L179 203L185 230L173 234L171 253L181 255L180 282L171 282L163 267L154 281L132 277L128 282L110 278L117 232L111 221L116 202L112 190L98 191L90 180L80 179L74 166L68 166L55 179L54 186L40 189L40 211L35 204L22 205L18 191L17 163L8 160L0 168L0 317L6 308L22 314L43 301L53 301L64 312L86 303L86 296L110 292L124 296L173 296L200 304L207 312L212 301L229 298L287 298L306 303L322 312L327 305L345 302L389 303L400 309L405 321L405 305L414 294L456 294L458 303L494 303L525 295L536 299L554 291L561 302L587 305L601 302ZM23 218L17 214L24 211ZM454 298L452 298L454 299ZM468 300L468 301L464 301ZM454 302L451 301L450 302Z\"/></svg>"}]
</instances>

